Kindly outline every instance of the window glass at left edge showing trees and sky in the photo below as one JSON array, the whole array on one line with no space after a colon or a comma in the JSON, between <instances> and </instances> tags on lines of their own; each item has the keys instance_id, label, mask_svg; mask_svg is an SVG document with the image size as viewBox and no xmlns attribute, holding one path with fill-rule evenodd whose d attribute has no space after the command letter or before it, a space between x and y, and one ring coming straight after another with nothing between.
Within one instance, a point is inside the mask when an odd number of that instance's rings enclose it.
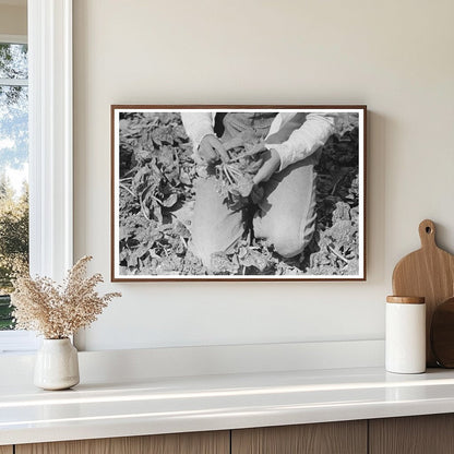
<instances>
[{"instance_id":1,"label":"window glass at left edge showing trees and sky","mask_svg":"<svg viewBox=\"0 0 454 454\"><path fill-rule=\"evenodd\" d=\"M11 279L28 266L27 46L0 44L0 330L13 321Z\"/></svg>"}]
</instances>

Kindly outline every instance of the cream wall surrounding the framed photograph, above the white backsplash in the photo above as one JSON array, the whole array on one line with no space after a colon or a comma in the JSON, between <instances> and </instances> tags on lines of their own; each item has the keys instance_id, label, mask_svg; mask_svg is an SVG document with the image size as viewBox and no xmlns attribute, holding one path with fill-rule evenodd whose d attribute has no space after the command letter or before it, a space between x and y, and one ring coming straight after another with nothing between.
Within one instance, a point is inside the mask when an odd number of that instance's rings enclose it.
<instances>
[{"instance_id":1,"label":"cream wall surrounding the framed photograph, above the white backsplash","mask_svg":"<svg viewBox=\"0 0 454 454\"><path fill-rule=\"evenodd\" d=\"M366 283L148 283L87 349L383 338L429 217L454 251L451 0L74 1L75 255L109 276L111 104L367 104Z\"/></svg>"}]
</instances>

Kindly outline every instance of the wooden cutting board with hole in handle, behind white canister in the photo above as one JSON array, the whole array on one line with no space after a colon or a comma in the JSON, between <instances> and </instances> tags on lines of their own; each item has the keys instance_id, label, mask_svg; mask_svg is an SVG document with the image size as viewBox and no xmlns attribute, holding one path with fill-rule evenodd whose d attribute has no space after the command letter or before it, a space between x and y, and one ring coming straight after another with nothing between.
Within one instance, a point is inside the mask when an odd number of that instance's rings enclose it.
<instances>
[{"instance_id":1,"label":"wooden cutting board with hole in handle, behind white canister","mask_svg":"<svg viewBox=\"0 0 454 454\"><path fill-rule=\"evenodd\" d=\"M454 296L454 255L435 242L435 225L426 219L419 224L421 249L404 256L393 273L393 294L426 298L427 366L437 366L430 348L430 325L438 304Z\"/></svg>"}]
</instances>

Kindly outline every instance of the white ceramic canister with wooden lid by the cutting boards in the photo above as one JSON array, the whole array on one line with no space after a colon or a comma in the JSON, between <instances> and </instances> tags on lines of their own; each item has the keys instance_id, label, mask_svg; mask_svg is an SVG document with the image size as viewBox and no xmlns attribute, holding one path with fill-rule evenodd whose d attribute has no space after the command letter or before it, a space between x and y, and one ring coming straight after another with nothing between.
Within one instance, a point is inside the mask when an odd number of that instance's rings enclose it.
<instances>
[{"instance_id":1,"label":"white ceramic canister with wooden lid by the cutting boards","mask_svg":"<svg viewBox=\"0 0 454 454\"><path fill-rule=\"evenodd\" d=\"M425 298L387 297L385 337L389 372L426 372Z\"/></svg>"}]
</instances>

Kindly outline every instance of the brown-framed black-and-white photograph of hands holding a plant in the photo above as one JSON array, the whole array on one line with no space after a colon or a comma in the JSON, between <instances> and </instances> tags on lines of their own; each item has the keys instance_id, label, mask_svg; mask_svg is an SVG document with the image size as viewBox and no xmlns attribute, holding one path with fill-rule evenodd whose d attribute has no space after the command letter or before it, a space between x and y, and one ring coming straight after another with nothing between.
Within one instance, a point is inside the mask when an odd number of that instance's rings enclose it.
<instances>
[{"instance_id":1,"label":"brown-framed black-and-white photograph of hands holding a plant","mask_svg":"<svg viewBox=\"0 0 454 454\"><path fill-rule=\"evenodd\" d=\"M365 280L366 106L111 106L112 280Z\"/></svg>"}]
</instances>

